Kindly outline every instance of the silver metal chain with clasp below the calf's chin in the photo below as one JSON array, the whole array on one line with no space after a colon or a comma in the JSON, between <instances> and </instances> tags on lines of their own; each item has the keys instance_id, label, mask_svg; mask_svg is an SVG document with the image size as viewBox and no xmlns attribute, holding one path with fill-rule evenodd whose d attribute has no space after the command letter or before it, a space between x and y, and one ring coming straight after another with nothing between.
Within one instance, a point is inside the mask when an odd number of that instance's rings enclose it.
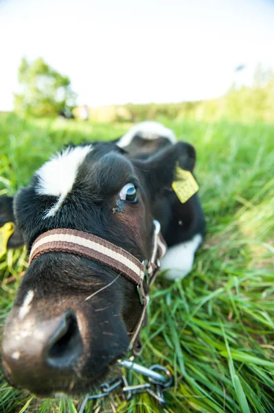
<instances>
[{"instance_id":1,"label":"silver metal chain with clasp below the calf's chin","mask_svg":"<svg viewBox=\"0 0 274 413\"><path fill-rule=\"evenodd\" d=\"M102 399L106 396L109 396L111 392L117 390L118 388L125 395L126 400L130 400L130 398L135 394L146 392L160 404L164 404L165 398L163 391L167 388L170 388L173 383L173 377L170 370L164 368L163 366L160 366L159 364L155 364L150 368L146 368L137 363L133 363L133 359L133 357L130 357L129 360L118 360L118 364L121 367L124 367L128 370L133 370L148 377L147 383L128 385L126 376L113 379L109 381L109 383L103 383L102 385L100 385L100 392L98 394L85 396L78 413L84 413L84 407L86 407L89 400ZM163 374L161 374L161 372L163 372Z\"/></svg>"}]
</instances>

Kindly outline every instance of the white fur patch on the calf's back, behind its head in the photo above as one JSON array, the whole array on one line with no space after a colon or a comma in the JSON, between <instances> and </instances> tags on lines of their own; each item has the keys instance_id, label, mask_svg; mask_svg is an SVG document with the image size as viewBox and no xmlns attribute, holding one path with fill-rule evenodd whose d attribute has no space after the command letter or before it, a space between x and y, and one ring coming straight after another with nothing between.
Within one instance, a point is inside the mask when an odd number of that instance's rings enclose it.
<instances>
[{"instance_id":1,"label":"white fur patch on the calf's back, behind its head","mask_svg":"<svg viewBox=\"0 0 274 413\"><path fill-rule=\"evenodd\" d=\"M159 136L164 136L170 140L171 143L176 143L176 136L171 129L168 129L168 127L163 126L159 122L147 120L146 122L138 123L130 128L129 131L118 140L117 145L120 148L128 146L137 134L141 135L144 139L150 140L157 139Z\"/></svg>"}]
</instances>

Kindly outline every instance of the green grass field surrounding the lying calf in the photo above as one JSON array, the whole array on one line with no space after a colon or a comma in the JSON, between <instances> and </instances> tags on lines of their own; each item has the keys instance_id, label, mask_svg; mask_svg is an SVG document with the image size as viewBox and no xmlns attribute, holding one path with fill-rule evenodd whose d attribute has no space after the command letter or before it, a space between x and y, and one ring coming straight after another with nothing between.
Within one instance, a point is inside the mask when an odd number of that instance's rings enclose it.
<instances>
[{"instance_id":1,"label":"green grass field surrounding the lying calf","mask_svg":"<svg viewBox=\"0 0 274 413\"><path fill-rule=\"evenodd\" d=\"M113 395L89 403L86 412L104 412L111 405L110 411L121 413L274 412L274 127L165 125L196 147L208 227L192 273L174 283L157 279L142 332L139 362L170 368L174 387L165 393L165 408L146 394L129 403ZM67 142L115 138L126 129L2 115L0 194L14 194L27 184ZM22 251L8 251L0 262L2 325L25 265ZM37 401L0 379L0 412L65 413L78 406L77 401Z\"/></svg>"}]
</instances>

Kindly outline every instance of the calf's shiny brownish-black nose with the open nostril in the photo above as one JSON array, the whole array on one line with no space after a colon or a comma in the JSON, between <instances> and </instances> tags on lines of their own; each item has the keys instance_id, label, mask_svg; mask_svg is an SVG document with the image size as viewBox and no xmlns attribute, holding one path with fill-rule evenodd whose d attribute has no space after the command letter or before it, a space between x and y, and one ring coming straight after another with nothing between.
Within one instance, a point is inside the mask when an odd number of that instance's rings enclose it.
<instances>
[{"instance_id":1,"label":"calf's shiny brownish-black nose with the open nostril","mask_svg":"<svg viewBox=\"0 0 274 413\"><path fill-rule=\"evenodd\" d=\"M3 368L10 383L43 394L58 388L58 381L73 377L83 351L76 315L38 321L30 314L6 324L2 348ZM42 386L41 386L42 384Z\"/></svg>"}]
</instances>

